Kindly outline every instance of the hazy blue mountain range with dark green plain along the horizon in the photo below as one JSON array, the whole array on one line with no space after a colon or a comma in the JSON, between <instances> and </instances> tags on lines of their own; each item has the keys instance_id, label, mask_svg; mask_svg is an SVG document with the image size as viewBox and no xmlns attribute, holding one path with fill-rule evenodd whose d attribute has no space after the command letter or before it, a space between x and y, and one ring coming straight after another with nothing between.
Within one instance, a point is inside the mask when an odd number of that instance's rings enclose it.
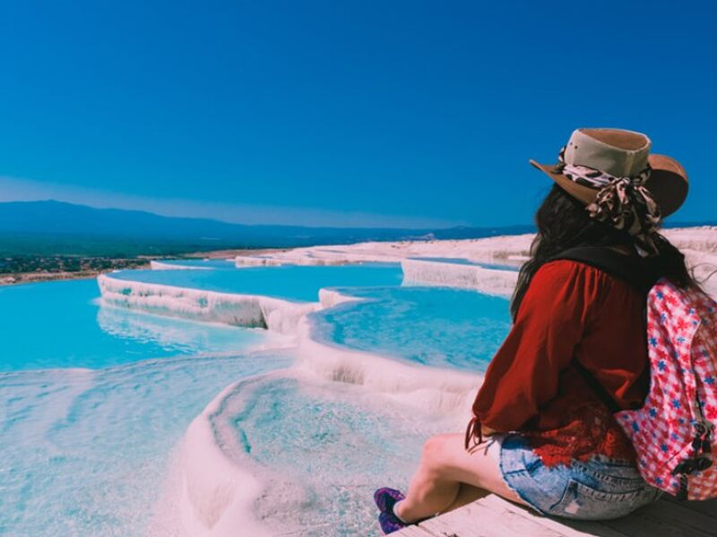
<instances>
[{"instance_id":1,"label":"hazy blue mountain range with dark green plain along the horizon","mask_svg":"<svg viewBox=\"0 0 717 537\"><path fill-rule=\"evenodd\" d=\"M690 225L710 224L714 225L706 222ZM680 224L671 225L675 226ZM162 217L138 210L95 209L55 200L0 203L0 256L174 254L363 241L469 239L532 231L533 226L445 229L246 226L207 218Z\"/></svg>"}]
</instances>

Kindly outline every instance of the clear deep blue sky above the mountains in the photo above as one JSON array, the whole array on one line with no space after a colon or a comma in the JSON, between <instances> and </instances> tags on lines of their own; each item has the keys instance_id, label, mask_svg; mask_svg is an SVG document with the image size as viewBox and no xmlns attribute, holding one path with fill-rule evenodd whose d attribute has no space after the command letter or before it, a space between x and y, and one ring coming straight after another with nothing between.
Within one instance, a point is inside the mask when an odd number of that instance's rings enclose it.
<instances>
[{"instance_id":1,"label":"clear deep blue sky above the mountains","mask_svg":"<svg viewBox=\"0 0 717 537\"><path fill-rule=\"evenodd\" d=\"M648 133L715 219L712 3L15 2L0 200L332 226L531 221L579 126Z\"/></svg>"}]
</instances>

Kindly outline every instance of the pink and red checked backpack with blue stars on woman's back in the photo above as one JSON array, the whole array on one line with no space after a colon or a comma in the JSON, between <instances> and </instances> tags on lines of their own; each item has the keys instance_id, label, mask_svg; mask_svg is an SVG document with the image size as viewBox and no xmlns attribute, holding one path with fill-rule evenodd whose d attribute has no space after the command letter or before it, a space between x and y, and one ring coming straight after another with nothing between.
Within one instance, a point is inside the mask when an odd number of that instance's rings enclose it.
<instances>
[{"instance_id":1,"label":"pink and red checked backpack with blue stars on woman's back","mask_svg":"<svg viewBox=\"0 0 717 537\"><path fill-rule=\"evenodd\" d=\"M707 458L712 465L687 476L687 498L717 498L717 303L660 280L647 299L647 340L650 393L641 409L615 417L645 481L677 494L677 466ZM701 426L708 432L695 448Z\"/></svg>"}]
</instances>

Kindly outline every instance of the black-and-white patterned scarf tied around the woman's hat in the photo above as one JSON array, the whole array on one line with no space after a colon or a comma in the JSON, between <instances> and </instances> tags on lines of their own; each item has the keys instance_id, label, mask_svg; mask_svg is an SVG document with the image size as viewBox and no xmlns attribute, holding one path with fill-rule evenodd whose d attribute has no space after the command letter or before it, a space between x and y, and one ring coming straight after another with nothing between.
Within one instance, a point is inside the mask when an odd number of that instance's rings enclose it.
<instances>
[{"instance_id":1,"label":"black-and-white patterned scarf tied around the woman's hat","mask_svg":"<svg viewBox=\"0 0 717 537\"><path fill-rule=\"evenodd\" d=\"M635 177L614 177L589 166L566 164L565 152L566 148L560 150L556 172L574 183L600 189L586 208L590 216L625 230L635 239L642 257L659 254L655 234L661 223L660 207L644 187L652 172L650 165Z\"/></svg>"}]
</instances>

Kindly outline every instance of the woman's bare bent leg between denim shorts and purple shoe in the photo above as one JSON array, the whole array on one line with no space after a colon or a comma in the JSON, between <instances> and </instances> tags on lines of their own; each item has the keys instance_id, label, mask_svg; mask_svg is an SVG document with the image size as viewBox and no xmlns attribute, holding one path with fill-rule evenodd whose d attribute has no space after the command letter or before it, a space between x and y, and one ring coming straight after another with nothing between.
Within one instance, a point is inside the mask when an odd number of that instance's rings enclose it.
<instances>
[{"instance_id":1,"label":"woman's bare bent leg between denim shorts and purple shoe","mask_svg":"<svg viewBox=\"0 0 717 537\"><path fill-rule=\"evenodd\" d=\"M523 500L503 481L497 461L488 455L487 446L488 443L483 443L468 452L463 447L462 434L444 434L428 439L423 447L419 469L410 482L408 496L397 506L396 514L406 522L415 522L447 511L466 499L459 499L462 484L471 485L484 494L495 492L505 499L523 504ZM472 491L472 494L477 492Z\"/></svg>"}]
</instances>

